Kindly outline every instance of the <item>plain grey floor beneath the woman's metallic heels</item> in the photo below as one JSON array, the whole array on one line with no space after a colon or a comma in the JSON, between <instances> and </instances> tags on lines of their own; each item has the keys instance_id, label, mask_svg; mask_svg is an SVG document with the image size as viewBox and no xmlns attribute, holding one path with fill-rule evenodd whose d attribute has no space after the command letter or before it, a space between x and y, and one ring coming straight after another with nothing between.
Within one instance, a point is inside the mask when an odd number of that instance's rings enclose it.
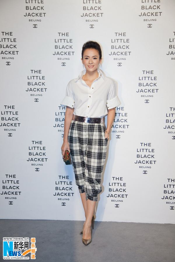
<instances>
[{"instance_id":1,"label":"plain grey floor beneath the woman's metallic heels","mask_svg":"<svg viewBox=\"0 0 175 262\"><path fill-rule=\"evenodd\" d=\"M35 237L38 262L175 262L175 224L95 221L85 246L83 223L1 219L0 261L3 237Z\"/></svg>"}]
</instances>

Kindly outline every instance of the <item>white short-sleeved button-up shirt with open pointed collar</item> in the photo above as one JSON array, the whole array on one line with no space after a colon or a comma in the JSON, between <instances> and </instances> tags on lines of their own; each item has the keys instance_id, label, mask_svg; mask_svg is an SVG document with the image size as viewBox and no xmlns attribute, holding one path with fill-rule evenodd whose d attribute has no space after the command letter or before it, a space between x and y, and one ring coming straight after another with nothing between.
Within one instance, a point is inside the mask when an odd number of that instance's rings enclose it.
<instances>
[{"instance_id":1,"label":"white short-sleeved button-up shirt with open pointed collar","mask_svg":"<svg viewBox=\"0 0 175 262\"><path fill-rule=\"evenodd\" d=\"M66 95L60 103L74 108L74 115L83 117L104 117L111 109L120 105L117 96L117 86L114 80L106 77L98 69L99 77L89 87L82 79L86 73L83 70L78 78L72 79L66 88Z\"/></svg>"}]
</instances>

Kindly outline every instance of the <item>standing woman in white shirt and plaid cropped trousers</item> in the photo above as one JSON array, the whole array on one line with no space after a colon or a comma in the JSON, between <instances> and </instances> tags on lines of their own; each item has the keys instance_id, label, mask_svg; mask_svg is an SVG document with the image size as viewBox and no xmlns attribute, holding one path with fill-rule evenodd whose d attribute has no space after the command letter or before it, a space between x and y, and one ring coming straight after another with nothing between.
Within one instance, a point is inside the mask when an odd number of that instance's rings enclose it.
<instances>
[{"instance_id":1,"label":"standing woman in white shirt and plaid cropped trousers","mask_svg":"<svg viewBox=\"0 0 175 262\"><path fill-rule=\"evenodd\" d=\"M68 83L66 95L61 102L62 106L66 105L61 150L62 155L65 150L71 154L86 218L82 241L88 245L92 241L95 204L102 190L101 173L106 159L107 142L115 107L120 105L120 100L115 81L99 70L102 57L97 42L88 41L83 45L81 61L85 70ZM105 115L108 115L106 130L103 124Z\"/></svg>"}]
</instances>

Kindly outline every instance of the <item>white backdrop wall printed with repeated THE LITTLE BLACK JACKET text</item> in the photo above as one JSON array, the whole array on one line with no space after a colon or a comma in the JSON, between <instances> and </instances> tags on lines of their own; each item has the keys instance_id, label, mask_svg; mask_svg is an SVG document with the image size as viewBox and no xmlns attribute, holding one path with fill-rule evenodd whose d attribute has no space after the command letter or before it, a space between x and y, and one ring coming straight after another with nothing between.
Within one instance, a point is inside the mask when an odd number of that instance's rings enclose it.
<instances>
[{"instance_id":1,"label":"white backdrop wall printed with repeated THE LITTLE BLACK JACKET text","mask_svg":"<svg viewBox=\"0 0 175 262\"><path fill-rule=\"evenodd\" d=\"M96 220L175 224L174 8L174 0L0 1L1 219L85 219L62 160L60 103L93 40L121 101Z\"/></svg>"}]
</instances>

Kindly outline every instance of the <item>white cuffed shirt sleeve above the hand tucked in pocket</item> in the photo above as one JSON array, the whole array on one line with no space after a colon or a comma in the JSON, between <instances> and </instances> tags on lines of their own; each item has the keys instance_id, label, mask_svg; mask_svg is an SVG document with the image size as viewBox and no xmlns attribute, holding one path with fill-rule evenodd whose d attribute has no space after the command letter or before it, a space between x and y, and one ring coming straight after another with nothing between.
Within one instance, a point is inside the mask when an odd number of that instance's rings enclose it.
<instances>
[{"instance_id":1,"label":"white cuffed shirt sleeve above the hand tucked in pocket","mask_svg":"<svg viewBox=\"0 0 175 262\"><path fill-rule=\"evenodd\" d=\"M113 81L110 85L109 92L107 95L107 103L106 106L108 109L114 108L118 105L120 105L121 102L117 95L117 85L116 82Z\"/></svg>"}]
</instances>

